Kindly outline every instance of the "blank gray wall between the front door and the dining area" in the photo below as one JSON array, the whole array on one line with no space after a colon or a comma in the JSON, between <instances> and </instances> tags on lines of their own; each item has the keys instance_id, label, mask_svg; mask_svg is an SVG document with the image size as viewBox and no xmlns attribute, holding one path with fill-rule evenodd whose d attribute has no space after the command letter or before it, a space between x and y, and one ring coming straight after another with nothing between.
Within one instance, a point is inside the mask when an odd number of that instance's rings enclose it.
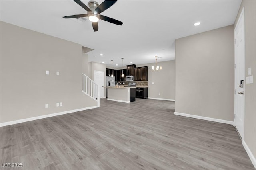
<instances>
[{"instance_id":1,"label":"blank gray wall between the front door and the dining area","mask_svg":"<svg viewBox=\"0 0 256 170\"><path fill-rule=\"evenodd\" d=\"M175 111L234 121L234 25L176 39Z\"/></svg>"}]
</instances>

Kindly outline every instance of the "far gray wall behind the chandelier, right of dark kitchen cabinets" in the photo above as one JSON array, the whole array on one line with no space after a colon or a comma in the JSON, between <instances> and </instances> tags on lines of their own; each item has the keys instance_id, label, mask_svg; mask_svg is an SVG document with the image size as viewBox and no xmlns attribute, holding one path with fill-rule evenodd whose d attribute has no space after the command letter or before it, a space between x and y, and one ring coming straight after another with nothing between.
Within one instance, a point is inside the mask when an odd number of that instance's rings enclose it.
<instances>
[{"instance_id":1,"label":"far gray wall behind the chandelier, right of dark kitchen cabinets","mask_svg":"<svg viewBox=\"0 0 256 170\"><path fill-rule=\"evenodd\" d=\"M162 66L162 70L151 71L156 63L136 66L148 66L148 97L175 100L175 60L157 62L157 65Z\"/></svg>"}]
</instances>

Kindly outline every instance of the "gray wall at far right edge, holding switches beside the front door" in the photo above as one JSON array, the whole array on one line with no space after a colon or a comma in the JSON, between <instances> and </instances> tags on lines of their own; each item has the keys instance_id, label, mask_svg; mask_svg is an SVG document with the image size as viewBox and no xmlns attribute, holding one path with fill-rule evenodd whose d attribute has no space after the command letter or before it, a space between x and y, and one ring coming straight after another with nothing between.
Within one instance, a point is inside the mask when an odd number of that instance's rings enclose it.
<instances>
[{"instance_id":1,"label":"gray wall at far right edge, holding switches beside the front door","mask_svg":"<svg viewBox=\"0 0 256 170\"><path fill-rule=\"evenodd\" d=\"M253 84L245 84L244 141L256 158L256 1L242 1L236 22L244 7L245 73L252 68ZM235 22L235 25L236 25Z\"/></svg>"}]
</instances>

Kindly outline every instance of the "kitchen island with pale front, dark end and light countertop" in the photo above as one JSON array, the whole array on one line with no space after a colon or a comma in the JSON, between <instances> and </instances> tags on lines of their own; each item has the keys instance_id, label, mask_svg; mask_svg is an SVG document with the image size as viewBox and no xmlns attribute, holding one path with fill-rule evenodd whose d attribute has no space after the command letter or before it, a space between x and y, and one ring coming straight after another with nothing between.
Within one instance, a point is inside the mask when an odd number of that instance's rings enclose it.
<instances>
[{"instance_id":1,"label":"kitchen island with pale front, dark end and light countertop","mask_svg":"<svg viewBox=\"0 0 256 170\"><path fill-rule=\"evenodd\" d=\"M108 88L108 100L130 103L135 101L136 86L111 86Z\"/></svg>"}]
</instances>

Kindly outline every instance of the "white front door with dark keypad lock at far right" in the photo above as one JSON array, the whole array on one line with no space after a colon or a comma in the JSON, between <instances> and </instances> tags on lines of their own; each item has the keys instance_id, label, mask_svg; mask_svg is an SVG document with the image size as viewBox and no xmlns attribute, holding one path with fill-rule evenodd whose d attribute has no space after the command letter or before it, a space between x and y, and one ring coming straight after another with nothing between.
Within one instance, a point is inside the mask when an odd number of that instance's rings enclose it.
<instances>
[{"instance_id":1,"label":"white front door with dark keypad lock at far right","mask_svg":"<svg viewBox=\"0 0 256 170\"><path fill-rule=\"evenodd\" d=\"M235 33L235 101L234 124L244 139L244 84L245 84L245 40L244 8L236 24Z\"/></svg>"}]
</instances>

